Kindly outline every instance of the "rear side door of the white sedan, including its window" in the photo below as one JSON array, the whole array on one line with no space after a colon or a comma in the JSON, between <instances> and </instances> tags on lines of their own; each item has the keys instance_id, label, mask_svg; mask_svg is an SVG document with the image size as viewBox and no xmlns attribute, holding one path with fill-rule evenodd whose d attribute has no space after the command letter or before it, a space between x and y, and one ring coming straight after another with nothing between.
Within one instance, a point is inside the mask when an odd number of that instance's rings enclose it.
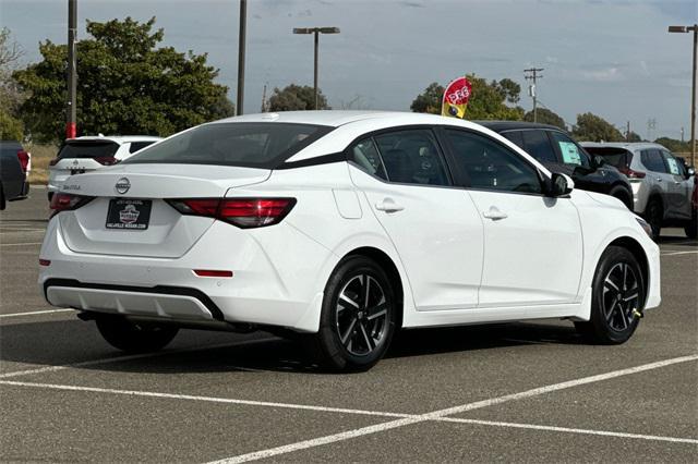
<instances>
[{"instance_id":1,"label":"rear side door of the white sedan, including its window","mask_svg":"<svg viewBox=\"0 0 698 464\"><path fill-rule=\"evenodd\" d=\"M431 129L383 132L348 148L350 175L390 237L418 310L478 304L482 220L454 187Z\"/></svg>"}]
</instances>

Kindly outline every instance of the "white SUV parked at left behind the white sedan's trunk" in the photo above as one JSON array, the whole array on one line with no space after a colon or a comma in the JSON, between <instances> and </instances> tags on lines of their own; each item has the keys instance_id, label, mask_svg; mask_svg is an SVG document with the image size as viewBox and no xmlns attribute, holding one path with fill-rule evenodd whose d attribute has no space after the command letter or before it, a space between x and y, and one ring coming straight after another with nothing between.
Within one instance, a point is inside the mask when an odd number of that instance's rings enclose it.
<instances>
[{"instance_id":1,"label":"white SUV parked at left behind the white sedan's trunk","mask_svg":"<svg viewBox=\"0 0 698 464\"><path fill-rule=\"evenodd\" d=\"M160 139L147 135L68 138L49 163L49 202L69 176L116 164Z\"/></svg>"}]
</instances>

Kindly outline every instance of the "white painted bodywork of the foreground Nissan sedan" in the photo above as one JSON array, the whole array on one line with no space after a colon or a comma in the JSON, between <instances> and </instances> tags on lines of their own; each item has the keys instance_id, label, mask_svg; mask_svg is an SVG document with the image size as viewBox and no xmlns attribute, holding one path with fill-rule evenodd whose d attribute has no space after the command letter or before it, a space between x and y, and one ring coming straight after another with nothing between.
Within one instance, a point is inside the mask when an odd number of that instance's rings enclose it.
<instances>
[{"instance_id":1,"label":"white painted bodywork of the foreground Nissan sedan","mask_svg":"<svg viewBox=\"0 0 698 464\"><path fill-rule=\"evenodd\" d=\"M589 320L597 264L609 244L624 239L646 255L645 308L660 303L658 246L630 211L604 195L574 190L567 197L546 198L392 184L352 162L313 162L372 131L445 125L494 138L543 176L551 175L491 131L450 118L382 112L289 112L222 122L276 121L335 129L290 157L287 163L300 161L292 169L123 163L71 178L63 192L97 198L58 213L48 224L40 258L50 265L41 266L38 279L47 301L83 310L213 321L216 315L201 298L163 291L195 289L227 322L316 332L330 273L349 253L369 247L397 268L405 328ZM124 176L132 188L119 195L115 185ZM294 197L297 204L278 224L239 229L178 216L163 200L224 196ZM152 198L151 228L105 229L113 197ZM497 211L506 218L486 217ZM233 277L201 278L193 269L231 270Z\"/></svg>"}]
</instances>

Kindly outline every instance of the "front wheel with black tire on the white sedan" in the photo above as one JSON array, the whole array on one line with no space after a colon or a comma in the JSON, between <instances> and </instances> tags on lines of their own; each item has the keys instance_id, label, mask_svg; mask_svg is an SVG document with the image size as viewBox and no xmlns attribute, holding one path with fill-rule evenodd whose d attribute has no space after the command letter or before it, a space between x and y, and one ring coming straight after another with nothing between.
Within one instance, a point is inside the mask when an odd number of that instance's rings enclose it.
<instances>
[{"instance_id":1,"label":"front wheel with black tire on the white sedan","mask_svg":"<svg viewBox=\"0 0 698 464\"><path fill-rule=\"evenodd\" d=\"M645 295L645 279L635 256L627 248L610 246L593 277L591 319L575 322L575 327L594 343L625 343L637 329Z\"/></svg>"}]
</instances>

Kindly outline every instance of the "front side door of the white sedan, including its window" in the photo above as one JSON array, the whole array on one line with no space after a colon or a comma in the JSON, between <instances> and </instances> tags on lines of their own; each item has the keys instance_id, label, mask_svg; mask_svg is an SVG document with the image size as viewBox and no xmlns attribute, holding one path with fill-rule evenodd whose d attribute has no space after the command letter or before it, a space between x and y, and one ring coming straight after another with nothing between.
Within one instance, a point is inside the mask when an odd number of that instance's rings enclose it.
<instances>
[{"instance_id":1,"label":"front side door of the white sedan, including its window","mask_svg":"<svg viewBox=\"0 0 698 464\"><path fill-rule=\"evenodd\" d=\"M571 303L582 265L570 198L543 195L538 169L480 133L444 130L459 183L484 222L481 307Z\"/></svg>"}]
</instances>

